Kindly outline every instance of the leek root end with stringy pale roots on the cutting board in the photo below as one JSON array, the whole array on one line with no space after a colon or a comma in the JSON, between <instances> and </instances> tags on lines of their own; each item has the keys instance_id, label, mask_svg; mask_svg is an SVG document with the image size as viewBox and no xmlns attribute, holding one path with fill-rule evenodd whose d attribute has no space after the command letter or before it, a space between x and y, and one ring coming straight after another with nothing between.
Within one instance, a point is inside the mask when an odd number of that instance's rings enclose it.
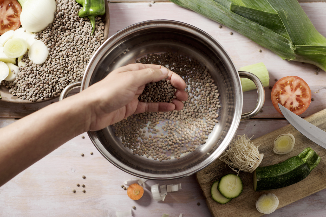
<instances>
[{"instance_id":1,"label":"leek root end with stringy pale roots on the cutting board","mask_svg":"<svg viewBox=\"0 0 326 217\"><path fill-rule=\"evenodd\" d=\"M219 158L220 161L228 164L233 171L252 173L264 156L264 154L259 154L258 147L259 145L256 147L250 143L250 138L247 136L238 136L232 140L229 149L225 150Z\"/></svg>"}]
</instances>

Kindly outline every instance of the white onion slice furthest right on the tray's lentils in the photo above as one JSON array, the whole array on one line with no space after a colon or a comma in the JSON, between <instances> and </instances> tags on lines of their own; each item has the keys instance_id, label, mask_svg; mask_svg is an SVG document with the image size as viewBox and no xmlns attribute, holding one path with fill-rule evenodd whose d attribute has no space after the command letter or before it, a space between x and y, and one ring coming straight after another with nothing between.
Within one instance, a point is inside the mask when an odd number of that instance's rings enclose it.
<instances>
[{"instance_id":1,"label":"white onion slice furthest right on the tray's lentils","mask_svg":"<svg viewBox=\"0 0 326 217\"><path fill-rule=\"evenodd\" d=\"M28 51L28 58L37 65L43 64L48 58L48 56L49 50L46 45L40 40L36 40L35 42L33 42L31 48Z\"/></svg>"}]
</instances>

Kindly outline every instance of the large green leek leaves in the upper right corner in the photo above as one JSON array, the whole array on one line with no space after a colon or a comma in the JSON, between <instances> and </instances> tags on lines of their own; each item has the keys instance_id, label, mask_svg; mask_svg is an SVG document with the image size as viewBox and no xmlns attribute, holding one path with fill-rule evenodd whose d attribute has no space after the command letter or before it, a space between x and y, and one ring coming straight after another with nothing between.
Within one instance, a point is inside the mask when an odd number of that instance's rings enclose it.
<instances>
[{"instance_id":1,"label":"large green leek leaves in the upper right corner","mask_svg":"<svg viewBox=\"0 0 326 217\"><path fill-rule=\"evenodd\" d=\"M326 38L297 0L170 0L248 37L283 60L326 71Z\"/></svg>"}]
</instances>

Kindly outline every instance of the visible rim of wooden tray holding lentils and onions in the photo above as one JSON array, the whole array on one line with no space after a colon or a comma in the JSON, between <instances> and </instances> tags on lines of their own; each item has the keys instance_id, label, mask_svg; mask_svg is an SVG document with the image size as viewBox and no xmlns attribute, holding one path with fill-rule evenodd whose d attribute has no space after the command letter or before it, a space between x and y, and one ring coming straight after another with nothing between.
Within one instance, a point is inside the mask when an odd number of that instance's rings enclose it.
<instances>
[{"instance_id":1,"label":"visible rim of wooden tray holding lentils and onions","mask_svg":"<svg viewBox=\"0 0 326 217\"><path fill-rule=\"evenodd\" d=\"M105 14L102 15L101 18L104 22L104 31L103 32L104 32L104 40L106 40L106 39L108 39L109 27L110 27L110 12L109 12L108 1L105 1ZM3 85L0 85L0 95L1 95L0 101L3 101L3 102L11 102L11 103L18 103L18 104L30 104L30 103L46 102L49 100L53 100L53 99L59 97L60 93L54 95L53 97L48 97L43 100L38 99L36 102L32 102L29 100L19 99L17 96L14 96L11 93L9 93L8 88L6 88Z\"/></svg>"}]
</instances>

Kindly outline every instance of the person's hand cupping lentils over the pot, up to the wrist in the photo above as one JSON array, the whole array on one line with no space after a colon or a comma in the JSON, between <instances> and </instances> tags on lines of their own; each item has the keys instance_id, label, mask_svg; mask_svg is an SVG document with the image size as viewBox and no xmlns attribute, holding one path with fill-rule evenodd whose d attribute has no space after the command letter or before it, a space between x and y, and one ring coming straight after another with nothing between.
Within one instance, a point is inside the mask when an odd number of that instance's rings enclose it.
<instances>
[{"instance_id":1,"label":"person's hand cupping lentils over the pot, up to the wrist","mask_svg":"<svg viewBox=\"0 0 326 217\"><path fill-rule=\"evenodd\" d=\"M172 103L138 101L146 84L167 76L177 89ZM93 99L90 103L92 115L89 130L103 129L132 114L182 110L183 102L188 99L185 87L185 81L179 75L160 65L135 63L115 69L81 92L88 95L83 96L85 99Z\"/></svg>"}]
</instances>

